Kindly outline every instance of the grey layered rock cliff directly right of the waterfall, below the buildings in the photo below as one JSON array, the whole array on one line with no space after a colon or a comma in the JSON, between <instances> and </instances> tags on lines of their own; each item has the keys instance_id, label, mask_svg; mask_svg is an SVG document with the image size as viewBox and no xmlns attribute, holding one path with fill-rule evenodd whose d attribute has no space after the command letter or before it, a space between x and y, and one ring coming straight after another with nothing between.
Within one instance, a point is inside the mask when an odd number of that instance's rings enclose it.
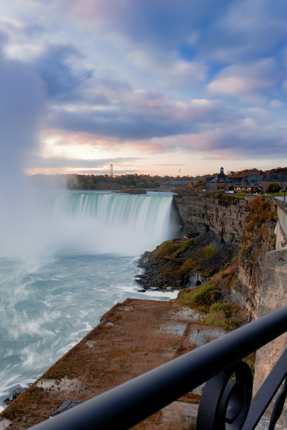
<instances>
[{"instance_id":1,"label":"grey layered rock cliff directly right of the waterfall, below the buildings","mask_svg":"<svg viewBox=\"0 0 287 430\"><path fill-rule=\"evenodd\" d=\"M174 204L184 232L200 234L212 230L225 242L240 242L247 215L246 200L225 200L177 194Z\"/></svg>"}]
</instances>

